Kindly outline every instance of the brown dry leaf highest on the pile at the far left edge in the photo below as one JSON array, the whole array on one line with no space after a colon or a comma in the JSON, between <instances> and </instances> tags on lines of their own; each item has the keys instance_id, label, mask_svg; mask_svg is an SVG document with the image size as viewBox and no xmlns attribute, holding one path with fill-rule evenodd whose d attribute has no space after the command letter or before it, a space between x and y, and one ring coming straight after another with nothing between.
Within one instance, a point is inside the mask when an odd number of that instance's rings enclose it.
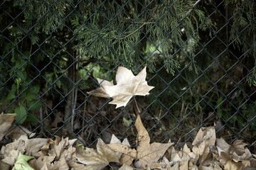
<instances>
[{"instance_id":1,"label":"brown dry leaf highest on the pile at the far left edge","mask_svg":"<svg viewBox=\"0 0 256 170\"><path fill-rule=\"evenodd\" d=\"M12 125L11 123L14 122L16 118L16 113L13 114L4 114L1 113L0 115L0 140L6 135L6 132L8 132Z\"/></svg>"}]
</instances>

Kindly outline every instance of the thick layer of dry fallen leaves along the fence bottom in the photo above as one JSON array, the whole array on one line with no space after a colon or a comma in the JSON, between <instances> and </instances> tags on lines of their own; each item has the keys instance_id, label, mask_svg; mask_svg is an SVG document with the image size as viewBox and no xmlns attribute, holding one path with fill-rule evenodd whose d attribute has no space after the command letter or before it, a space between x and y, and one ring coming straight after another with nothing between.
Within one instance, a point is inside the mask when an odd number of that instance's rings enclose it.
<instances>
[{"instance_id":1,"label":"thick layer of dry fallen leaves along the fence bottom","mask_svg":"<svg viewBox=\"0 0 256 170\"><path fill-rule=\"evenodd\" d=\"M215 127L201 128L192 145L177 150L174 143L151 142L140 116L137 116L137 145L122 142L112 135L110 144L100 138L95 149L82 147L76 139L29 138L12 125L16 114L0 115L0 138L9 133L9 142L1 146L0 169L256 169L256 155L242 140L228 145L215 137ZM19 129L19 130L18 130ZM27 130L28 133L30 133ZM32 134L33 135L33 134Z\"/></svg>"}]
</instances>

